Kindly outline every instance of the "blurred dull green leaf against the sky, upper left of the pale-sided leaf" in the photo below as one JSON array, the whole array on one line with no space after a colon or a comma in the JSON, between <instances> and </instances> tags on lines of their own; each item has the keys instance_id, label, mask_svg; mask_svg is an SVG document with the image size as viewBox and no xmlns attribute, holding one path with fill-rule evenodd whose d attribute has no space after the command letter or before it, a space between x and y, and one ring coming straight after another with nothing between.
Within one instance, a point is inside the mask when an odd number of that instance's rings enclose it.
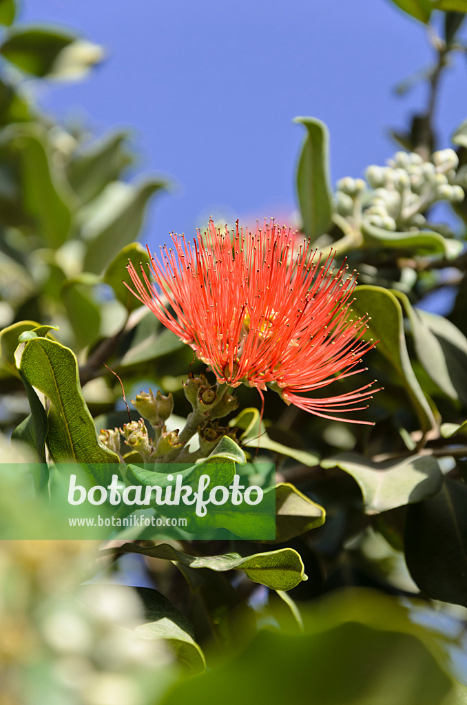
<instances>
[{"instance_id":1,"label":"blurred dull green leaf against the sky, upper left of the pale-sided leaf","mask_svg":"<svg viewBox=\"0 0 467 705\"><path fill-rule=\"evenodd\" d=\"M133 157L126 149L128 131L121 130L95 140L75 152L68 164L68 181L82 203L95 198L111 182L118 180Z\"/></svg>"}]
</instances>

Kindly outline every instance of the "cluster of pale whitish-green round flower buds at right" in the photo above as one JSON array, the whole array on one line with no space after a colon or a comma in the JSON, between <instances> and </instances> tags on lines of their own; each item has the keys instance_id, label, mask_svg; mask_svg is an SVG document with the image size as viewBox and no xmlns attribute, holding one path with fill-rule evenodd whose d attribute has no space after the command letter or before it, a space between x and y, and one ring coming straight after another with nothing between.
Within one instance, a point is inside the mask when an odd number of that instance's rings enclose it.
<instances>
[{"instance_id":1,"label":"cluster of pale whitish-green round flower buds at right","mask_svg":"<svg viewBox=\"0 0 467 705\"><path fill-rule=\"evenodd\" d=\"M396 152L387 166L368 166L365 178L350 177L336 185L336 208L349 221L362 220L389 231L416 231L424 213L436 201L461 202L464 191L454 149L434 152L423 161L415 152Z\"/></svg>"}]
</instances>

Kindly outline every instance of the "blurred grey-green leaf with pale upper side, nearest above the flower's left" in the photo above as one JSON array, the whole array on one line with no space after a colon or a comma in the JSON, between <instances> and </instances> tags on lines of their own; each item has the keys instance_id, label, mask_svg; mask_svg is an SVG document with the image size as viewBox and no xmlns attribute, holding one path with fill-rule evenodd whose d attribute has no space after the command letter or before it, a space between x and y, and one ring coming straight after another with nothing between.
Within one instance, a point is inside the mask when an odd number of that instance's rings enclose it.
<instances>
[{"instance_id":1,"label":"blurred grey-green leaf with pale upper side, nearest above the flower's left","mask_svg":"<svg viewBox=\"0 0 467 705\"><path fill-rule=\"evenodd\" d=\"M166 183L146 180L139 185L111 184L99 196L101 207L94 202L95 214L83 226L88 241L84 269L99 274L128 243L138 240L147 202Z\"/></svg>"}]
</instances>

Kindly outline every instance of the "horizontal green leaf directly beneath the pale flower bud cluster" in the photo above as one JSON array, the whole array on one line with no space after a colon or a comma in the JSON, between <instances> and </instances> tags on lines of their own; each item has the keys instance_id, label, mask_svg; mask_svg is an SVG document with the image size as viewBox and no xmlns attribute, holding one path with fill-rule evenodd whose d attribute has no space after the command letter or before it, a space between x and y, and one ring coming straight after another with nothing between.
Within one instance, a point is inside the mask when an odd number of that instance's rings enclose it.
<instances>
[{"instance_id":1,"label":"horizontal green leaf directly beneath the pale flower bud cluster","mask_svg":"<svg viewBox=\"0 0 467 705\"><path fill-rule=\"evenodd\" d=\"M396 250L411 250L417 255L443 255L453 258L459 255L462 249L462 243L457 240L447 240L439 233L429 230L417 233L394 233L363 221L362 234L363 242L369 247L375 247L375 245L393 247ZM456 248L459 252L456 252Z\"/></svg>"}]
</instances>

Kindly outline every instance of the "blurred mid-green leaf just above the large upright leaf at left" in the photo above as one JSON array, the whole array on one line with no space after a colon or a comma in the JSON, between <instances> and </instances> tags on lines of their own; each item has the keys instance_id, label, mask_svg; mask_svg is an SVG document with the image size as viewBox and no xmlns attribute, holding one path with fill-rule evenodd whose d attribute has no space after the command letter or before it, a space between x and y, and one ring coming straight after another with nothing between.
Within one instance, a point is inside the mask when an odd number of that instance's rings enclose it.
<instances>
[{"instance_id":1,"label":"blurred mid-green leaf just above the large upright leaf at left","mask_svg":"<svg viewBox=\"0 0 467 705\"><path fill-rule=\"evenodd\" d=\"M91 345L99 337L101 314L92 298L92 286L66 280L61 288L61 300L80 348Z\"/></svg>"}]
</instances>

